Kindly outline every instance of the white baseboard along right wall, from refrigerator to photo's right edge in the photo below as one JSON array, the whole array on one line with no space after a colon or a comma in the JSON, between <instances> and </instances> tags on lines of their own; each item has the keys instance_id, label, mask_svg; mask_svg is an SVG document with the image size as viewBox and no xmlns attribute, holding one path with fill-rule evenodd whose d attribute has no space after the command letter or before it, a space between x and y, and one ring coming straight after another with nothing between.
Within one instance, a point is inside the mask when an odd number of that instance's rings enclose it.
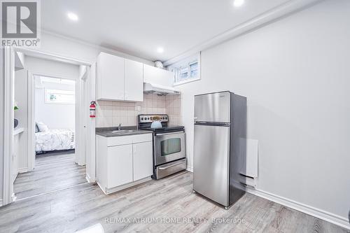
<instances>
[{"instance_id":1,"label":"white baseboard along right wall, from refrigerator to photo's right edge","mask_svg":"<svg viewBox=\"0 0 350 233\"><path fill-rule=\"evenodd\" d=\"M287 199L285 197L274 195L272 193L265 192L262 190L253 190L252 188L248 188L246 191L253 194L253 195L256 195L258 197L268 199L269 201L276 202L276 203L281 204L283 206L288 206L288 207L295 209L297 211L307 213L310 216L320 218L322 220L325 220L327 222L333 223L335 225L338 225L340 227L344 227L344 228L350 230L349 220L347 220L346 218L343 218L342 216L337 216L334 213L330 213L328 211L323 211L321 209L317 209L315 207L308 206L306 204L302 204L300 202L295 202L291 199Z\"/></svg>"}]
</instances>

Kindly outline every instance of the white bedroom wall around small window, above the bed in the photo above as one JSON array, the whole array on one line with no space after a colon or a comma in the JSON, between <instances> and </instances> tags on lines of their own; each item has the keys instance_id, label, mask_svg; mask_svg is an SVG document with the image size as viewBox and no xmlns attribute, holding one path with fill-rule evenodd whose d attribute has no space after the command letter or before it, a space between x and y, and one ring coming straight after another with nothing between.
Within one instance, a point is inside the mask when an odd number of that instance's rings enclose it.
<instances>
[{"instance_id":1,"label":"white bedroom wall around small window, above the bed","mask_svg":"<svg viewBox=\"0 0 350 233\"><path fill-rule=\"evenodd\" d=\"M49 129L72 129L75 125L75 104L45 103L45 89L69 90L75 92L75 85L43 83L35 89L35 120L48 125Z\"/></svg>"}]
</instances>

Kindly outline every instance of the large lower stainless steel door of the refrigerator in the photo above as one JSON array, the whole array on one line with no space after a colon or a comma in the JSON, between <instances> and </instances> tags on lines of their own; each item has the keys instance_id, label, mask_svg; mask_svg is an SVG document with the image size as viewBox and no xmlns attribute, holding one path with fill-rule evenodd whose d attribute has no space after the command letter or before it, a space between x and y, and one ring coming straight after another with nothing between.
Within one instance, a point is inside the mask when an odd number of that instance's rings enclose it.
<instances>
[{"instance_id":1,"label":"large lower stainless steel door of the refrigerator","mask_svg":"<svg viewBox=\"0 0 350 233\"><path fill-rule=\"evenodd\" d=\"M193 190L229 206L230 127L195 125Z\"/></svg>"}]
</instances>

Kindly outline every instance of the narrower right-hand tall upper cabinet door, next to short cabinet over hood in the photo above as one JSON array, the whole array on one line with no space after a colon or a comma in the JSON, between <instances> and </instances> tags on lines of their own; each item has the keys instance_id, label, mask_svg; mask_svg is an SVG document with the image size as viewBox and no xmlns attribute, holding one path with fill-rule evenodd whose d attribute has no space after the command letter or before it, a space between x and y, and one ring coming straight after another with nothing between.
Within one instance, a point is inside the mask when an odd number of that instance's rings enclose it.
<instances>
[{"instance_id":1,"label":"narrower right-hand tall upper cabinet door, next to short cabinet over hood","mask_svg":"<svg viewBox=\"0 0 350 233\"><path fill-rule=\"evenodd\" d=\"M125 59L125 96L127 101L144 101L144 66Z\"/></svg>"}]
</instances>

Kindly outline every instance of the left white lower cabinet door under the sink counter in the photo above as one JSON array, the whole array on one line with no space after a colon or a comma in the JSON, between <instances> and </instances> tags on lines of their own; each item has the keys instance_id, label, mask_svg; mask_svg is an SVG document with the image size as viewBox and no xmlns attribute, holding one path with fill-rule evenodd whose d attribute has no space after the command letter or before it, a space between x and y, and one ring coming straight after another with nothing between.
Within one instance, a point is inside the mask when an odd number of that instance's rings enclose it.
<instances>
[{"instance_id":1,"label":"left white lower cabinet door under the sink counter","mask_svg":"<svg viewBox=\"0 0 350 233\"><path fill-rule=\"evenodd\" d=\"M108 148L107 173L107 188L132 182L132 144Z\"/></svg>"}]
</instances>

